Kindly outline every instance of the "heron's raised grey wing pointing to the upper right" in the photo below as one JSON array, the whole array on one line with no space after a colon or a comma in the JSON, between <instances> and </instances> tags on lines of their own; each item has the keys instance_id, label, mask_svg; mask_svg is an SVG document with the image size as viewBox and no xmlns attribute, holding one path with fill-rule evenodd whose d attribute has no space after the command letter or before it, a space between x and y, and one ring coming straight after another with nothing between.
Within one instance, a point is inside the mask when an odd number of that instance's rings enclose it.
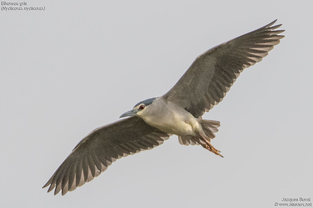
<instances>
[{"instance_id":1,"label":"heron's raised grey wing pointing to the upper right","mask_svg":"<svg viewBox=\"0 0 313 208\"><path fill-rule=\"evenodd\" d=\"M285 30L264 27L209 49L192 63L165 99L174 102L198 118L223 100L244 68L260 62L285 37Z\"/></svg>"}]
</instances>

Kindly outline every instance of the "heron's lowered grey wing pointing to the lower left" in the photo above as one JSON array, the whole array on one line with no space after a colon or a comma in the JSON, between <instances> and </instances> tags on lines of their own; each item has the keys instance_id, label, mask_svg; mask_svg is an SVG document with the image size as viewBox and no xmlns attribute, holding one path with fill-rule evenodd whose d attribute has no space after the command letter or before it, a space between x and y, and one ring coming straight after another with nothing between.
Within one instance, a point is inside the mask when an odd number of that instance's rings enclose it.
<instances>
[{"instance_id":1,"label":"heron's lowered grey wing pointing to the lower left","mask_svg":"<svg viewBox=\"0 0 313 208\"><path fill-rule=\"evenodd\" d=\"M169 136L137 116L99 127L77 144L44 187L64 195L99 176L116 159L152 149Z\"/></svg>"}]
</instances>

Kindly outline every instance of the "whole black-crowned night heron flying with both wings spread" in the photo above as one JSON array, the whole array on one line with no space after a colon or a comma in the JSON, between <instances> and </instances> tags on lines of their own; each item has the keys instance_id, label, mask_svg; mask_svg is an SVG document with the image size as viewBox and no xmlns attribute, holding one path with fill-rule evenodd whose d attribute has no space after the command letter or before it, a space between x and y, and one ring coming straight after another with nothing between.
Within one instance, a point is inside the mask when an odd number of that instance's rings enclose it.
<instances>
[{"instance_id":1,"label":"whole black-crowned night heron flying with both wings spread","mask_svg":"<svg viewBox=\"0 0 313 208\"><path fill-rule=\"evenodd\" d=\"M152 149L172 134L183 145L201 145L220 155L210 143L219 121L202 115L222 101L244 68L260 62L284 36L284 30L264 27L234 38L196 58L174 87L161 97L138 102L120 117L85 136L44 185L62 195L99 176L116 159ZM43 188L44 188L43 187Z\"/></svg>"}]
</instances>

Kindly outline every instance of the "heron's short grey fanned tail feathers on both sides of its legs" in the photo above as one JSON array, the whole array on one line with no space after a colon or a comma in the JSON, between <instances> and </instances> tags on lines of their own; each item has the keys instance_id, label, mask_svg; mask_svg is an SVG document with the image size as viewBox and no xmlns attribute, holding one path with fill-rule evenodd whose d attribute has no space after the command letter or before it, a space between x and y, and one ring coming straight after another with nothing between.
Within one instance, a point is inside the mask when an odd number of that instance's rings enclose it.
<instances>
[{"instance_id":1,"label":"heron's short grey fanned tail feathers on both sides of its legs","mask_svg":"<svg viewBox=\"0 0 313 208\"><path fill-rule=\"evenodd\" d=\"M221 126L219 121L198 119L198 122L201 124L204 133L208 136L208 139L213 139L216 132L218 132L218 127ZM178 141L182 145L200 145L205 142L202 141L201 137L193 136L178 136Z\"/></svg>"}]
</instances>

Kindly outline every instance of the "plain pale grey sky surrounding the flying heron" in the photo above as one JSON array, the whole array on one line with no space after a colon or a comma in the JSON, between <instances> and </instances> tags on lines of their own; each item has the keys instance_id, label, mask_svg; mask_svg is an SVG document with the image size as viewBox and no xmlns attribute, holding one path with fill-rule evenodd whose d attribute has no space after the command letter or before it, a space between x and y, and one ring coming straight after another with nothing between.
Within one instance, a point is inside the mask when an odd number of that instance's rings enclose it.
<instances>
[{"instance_id":1,"label":"plain pale grey sky surrounding the flying heron","mask_svg":"<svg viewBox=\"0 0 313 208\"><path fill-rule=\"evenodd\" d=\"M0 207L312 199L308 2L27 1L45 11L0 11ZM172 136L65 196L41 189L90 131L163 95L199 54L275 19L286 37L204 115L221 121L212 143L224 158Z\"/></svg>"}]
</instances>

